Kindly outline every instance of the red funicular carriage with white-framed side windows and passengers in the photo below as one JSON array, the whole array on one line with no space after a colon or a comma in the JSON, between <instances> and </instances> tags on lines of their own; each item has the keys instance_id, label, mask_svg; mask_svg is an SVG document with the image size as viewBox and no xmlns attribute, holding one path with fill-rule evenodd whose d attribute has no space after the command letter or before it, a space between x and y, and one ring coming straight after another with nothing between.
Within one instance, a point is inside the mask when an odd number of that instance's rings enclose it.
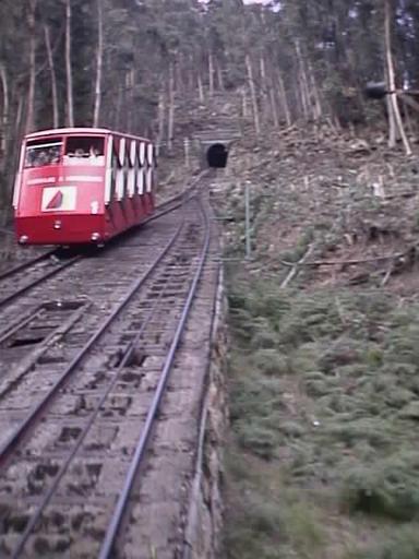
<instances>
[{"instance_id":1,"label":"red funicular carriage with white-framed side windows and passengers","mask_svg":"<svg viewBox=\"0 0 419 559\"><path fill-rule=\"evenodd\" d=\"M19 242L103 243L137 225L154 210L155 168L143 138L95 128L28 134L13 197Z\"/></svg>"}]
</instances>

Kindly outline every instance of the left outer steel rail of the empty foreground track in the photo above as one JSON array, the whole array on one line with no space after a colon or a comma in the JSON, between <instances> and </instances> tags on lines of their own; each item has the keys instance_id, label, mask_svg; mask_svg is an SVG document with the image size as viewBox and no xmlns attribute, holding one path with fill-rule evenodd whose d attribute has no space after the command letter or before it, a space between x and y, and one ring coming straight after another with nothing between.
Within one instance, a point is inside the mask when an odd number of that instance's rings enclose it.
<instances>
[{"instance_id":1,"label":"left outer steel rail of the empty foreground track","mask_svg":"<svg viewBox=\"0 0 419 559\"><path fill-rule=\"evenodd\" d=\"M88 342L84 345L84 347L77 353L77 355L73 358L73 360L69 364L69 366L61 373L56 383L50 388L44 399L34 407L32 412L26 416L24 421L15 429L15 431L8 438L8 440L0 447L0 467L4 465L4 462L10 456L10 454L15 450L19 445L23 437L27 433L27 431L33 427L34 423L39 418L41 413L45 411L47 405L51 402L57 392L63 386L65 381L70 378L71 373L76 369L82 359L86 356L86 354L91 350L94 344L101 337L105 331L109 328L109 325L115 321L115 319L120 314L120 312L124 309L128 302L132 299L139 288L146 282L149 275L155 271L159 262L167 254L171 246L177 240L182 227L184 224L184 219L181 221L177 230L170 238L170 240L166 243L165 248L156 257L151 266L144 274L136 280L132 287L130 288L127 296L123 298L121 302L119 302L113 311L109 314L103 325L91 336Z\"/></svg>"}]
</instances>

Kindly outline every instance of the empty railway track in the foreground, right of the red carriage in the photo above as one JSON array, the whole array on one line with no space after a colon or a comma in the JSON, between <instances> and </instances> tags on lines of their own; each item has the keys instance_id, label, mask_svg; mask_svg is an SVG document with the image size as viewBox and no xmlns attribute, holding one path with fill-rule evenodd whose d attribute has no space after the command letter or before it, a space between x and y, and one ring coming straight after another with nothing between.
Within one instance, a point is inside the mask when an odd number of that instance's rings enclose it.
<instances>
[{"instance_id":1,"label":"empty railway track in the foreground, right of the red carriage","mask_svg":"<svg viewBox=\"0 0 419 559\"><path fill-rule=\"evenodd\" d=\"M211 243L192 191L163 212L0 333L1 557L131 557L139 472Z\"/></svg>"}]
</instances>

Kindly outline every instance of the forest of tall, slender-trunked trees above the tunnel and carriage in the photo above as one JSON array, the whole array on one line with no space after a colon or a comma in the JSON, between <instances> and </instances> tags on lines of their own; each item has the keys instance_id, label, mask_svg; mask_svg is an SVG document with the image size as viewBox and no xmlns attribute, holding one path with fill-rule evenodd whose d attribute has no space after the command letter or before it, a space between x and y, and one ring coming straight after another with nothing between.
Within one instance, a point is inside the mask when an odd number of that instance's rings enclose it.
<instances>
[{"instance_id":1,"label":"forest of tall, slender-trunked trees above the tunnel and carriage","mask_svg":"<svg viewBox=\"0 0 419 559\"><path fill-rule=\"evenodd\" d=\"M369 82L418 87L415 0L2 0L0 192L8 209L24 133L101 126L151 134L168 150L177 103L242 97L255 138L296 121L363 126L391 118L396 94L366 102ZM405 96L403 114L418 105ZM407 139L404 139L406 150Z\"/></svg>"}]
</instances>

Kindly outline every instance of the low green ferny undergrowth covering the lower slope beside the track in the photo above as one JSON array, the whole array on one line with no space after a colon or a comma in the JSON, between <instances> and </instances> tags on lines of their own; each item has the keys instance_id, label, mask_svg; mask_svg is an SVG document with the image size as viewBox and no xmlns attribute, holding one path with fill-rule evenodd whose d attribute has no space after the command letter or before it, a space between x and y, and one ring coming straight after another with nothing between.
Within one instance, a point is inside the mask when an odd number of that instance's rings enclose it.
<instances>
[{"instance_id":1,"label":"low green ferny undergrowth covering the lower slope beside the track","mask_svg":"<svg viewBox=\"0 0 419 559\"><path fill-rule=\"evenodd\" d=\"M418 558L419 305L230 274L229 307L228 557Z\"/></svg>"}]
</instances>

